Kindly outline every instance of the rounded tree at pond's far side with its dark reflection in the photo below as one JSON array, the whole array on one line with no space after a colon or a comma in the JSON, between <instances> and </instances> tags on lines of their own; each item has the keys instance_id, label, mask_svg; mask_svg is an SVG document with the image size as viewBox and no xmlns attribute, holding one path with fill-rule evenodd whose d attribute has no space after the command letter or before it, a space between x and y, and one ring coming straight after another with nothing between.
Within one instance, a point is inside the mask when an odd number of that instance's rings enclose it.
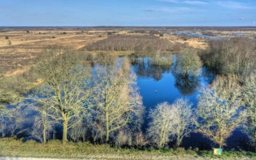
<instances>
[{"instance_id":1,"label":"rounded tree at pond's far side with its dark reflection","mask_svg":"<svg viewBox=\"0 0 256 160\"><path fill-rule=\"evenodd\" d=\"M172 74L175 77L175 86L182 95L196 92L202 73L201 67L199 56L191 50L176 55Z\"/></svg>"}]
</instances>

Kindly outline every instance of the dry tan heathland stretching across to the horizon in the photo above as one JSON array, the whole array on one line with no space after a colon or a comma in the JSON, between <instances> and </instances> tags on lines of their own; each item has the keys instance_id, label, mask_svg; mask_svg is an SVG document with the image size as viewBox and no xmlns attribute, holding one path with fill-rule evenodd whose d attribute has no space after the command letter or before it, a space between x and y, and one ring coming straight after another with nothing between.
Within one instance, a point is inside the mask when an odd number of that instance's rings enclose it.
<instances>
[{"instance_id":1,"label":"dry tan heathland stretching across to the horizon","mask_svg":"<svg viewBox=\"0 0 256 160\"><path fill-rule=\"evenodd\" d=\"M160 38L169 40L173 44L185 44L196 49L207 48L202 37L175 35L175 31L192 31L207 33L214 36L234 37L237 33L234 28L0 28L0 70L6 76L14 76L28 70L33 60L42 54L42 50L49 45L57 45L80 51L88 44L107 38L108 35L148 35L152 30ZM238 30L238 29L237 29ZM166 33L168 31L168 33ZM239 33L255 35L255 28L239 28ZM86 52L83 50L83 52ZM129 54L131 52L115 52L116 54Z\"/></svg>"}]
</instances>

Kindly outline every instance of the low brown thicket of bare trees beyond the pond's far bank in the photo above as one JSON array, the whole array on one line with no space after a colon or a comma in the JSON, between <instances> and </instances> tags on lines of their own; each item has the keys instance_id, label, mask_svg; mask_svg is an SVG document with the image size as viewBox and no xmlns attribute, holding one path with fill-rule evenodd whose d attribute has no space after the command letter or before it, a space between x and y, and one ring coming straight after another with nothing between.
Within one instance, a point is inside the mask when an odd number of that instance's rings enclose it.
<instances>
[{"instance_id":1,"label":"low brown thicket of bare trees beyond the pond's far bank","mask_svg":"<svg viewBox=\"0 0 256 160\"><path fill-rule=\"evenodd\" d=\"M111 35L86 46L88 51L134 51L147 54L179 49L179 44L172 44L154 35Z\"/></svg>"}]
</instances>

